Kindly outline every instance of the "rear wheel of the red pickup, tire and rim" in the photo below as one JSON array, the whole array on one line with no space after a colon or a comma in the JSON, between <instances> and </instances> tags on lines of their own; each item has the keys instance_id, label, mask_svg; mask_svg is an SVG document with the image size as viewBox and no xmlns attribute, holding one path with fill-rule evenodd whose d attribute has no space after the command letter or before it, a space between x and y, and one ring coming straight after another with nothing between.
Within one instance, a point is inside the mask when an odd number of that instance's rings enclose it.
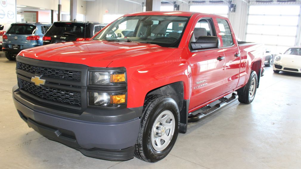
<instances>
[{"instance_id":1,"label":"rear wheel of the red pickup, tire and rim","mask_svg":"<svg viewBox=\"0 0 301 169\"><path fill-rule=\"evenodd\" d=\"M253 81L254 80L254 81ZM251 87L252 86L252 87ZM252 95L250 96L250 88L252 88ZM248 83L245 85L243 91L238 91L238 101L240 103L250 104L254 100L257 89L257 74L252 70Z\"/></svg>"}]
</instances>

